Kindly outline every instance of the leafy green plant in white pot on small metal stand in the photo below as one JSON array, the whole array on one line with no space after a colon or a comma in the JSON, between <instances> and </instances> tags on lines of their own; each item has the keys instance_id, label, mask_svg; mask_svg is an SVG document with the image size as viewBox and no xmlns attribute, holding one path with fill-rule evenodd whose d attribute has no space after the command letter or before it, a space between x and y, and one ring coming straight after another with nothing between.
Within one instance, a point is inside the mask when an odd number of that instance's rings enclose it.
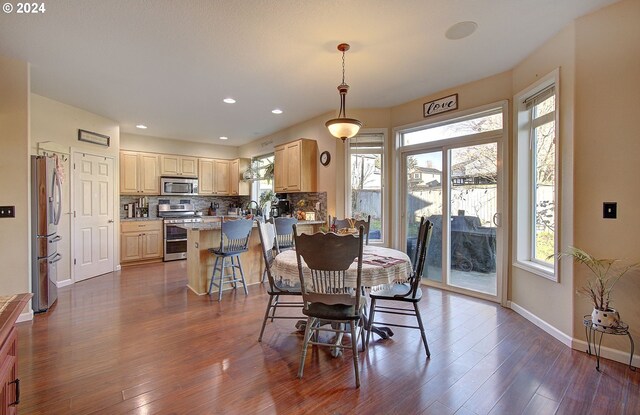
<instances>
[{"instance_id":1,"label":"leafy green plant in white pot on small metal stand","mask_svg":"<svg viewBox=\"0 0 640 415\"><path fill-rule=\"evenodd\" d=\"M616 283L624 274L640 266L640 262L621 264L619 259L598 259L580 248L569 247L559 257L569 256L577 263L586 265L591 271L584 286L577 292L591 300L593 312L591 321L603 327L616 327L620 321L619 313L611 307L611 293Z\"/></svg>"}]
</instances>

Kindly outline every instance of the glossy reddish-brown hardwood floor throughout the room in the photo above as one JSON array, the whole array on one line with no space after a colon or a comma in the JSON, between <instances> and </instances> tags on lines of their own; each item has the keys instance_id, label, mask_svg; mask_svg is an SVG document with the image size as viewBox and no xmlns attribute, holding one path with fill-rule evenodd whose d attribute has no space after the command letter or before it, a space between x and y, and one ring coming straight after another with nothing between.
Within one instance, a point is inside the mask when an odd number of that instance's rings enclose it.
<instances>
[{"instance_id":1,"label":"glossy reddish-brown hardwood floor throughout the room","mask_svg":"<svg viewBox=\"0 0 640 415\"><path fill-rule=\"evenodd\" d=\"M185 261L125 268L59 290L18 324L20 414L638 414L640 372L573 351L511 310L425 289L417 330L360 355L310 350L294 320L267 323L262 285L222 302L186 288ZM291 312L293 312L292 310ZM389 317L387 317L389 318Z\"/></svg>"}]
</instances>

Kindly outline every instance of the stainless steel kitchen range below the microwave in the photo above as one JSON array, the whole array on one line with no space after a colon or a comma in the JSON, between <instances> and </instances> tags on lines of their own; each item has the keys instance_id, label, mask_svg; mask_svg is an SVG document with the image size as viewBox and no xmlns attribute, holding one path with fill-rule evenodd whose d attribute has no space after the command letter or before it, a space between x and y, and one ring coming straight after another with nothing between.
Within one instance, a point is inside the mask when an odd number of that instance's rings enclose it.
<instances>
[{"instance_id":1,"label":"stainless steel kitchen range below the microwave","mask_svg":"<svg viewBox=\"0 0 640 415\"><path fill-rule=\"evenodd\" d=\"M159 204L158 217L164 222L164 260L187 258L187 230L178 225L202 222L196 216L195 206L190 203Z\"/></svg>"}]
</instances>

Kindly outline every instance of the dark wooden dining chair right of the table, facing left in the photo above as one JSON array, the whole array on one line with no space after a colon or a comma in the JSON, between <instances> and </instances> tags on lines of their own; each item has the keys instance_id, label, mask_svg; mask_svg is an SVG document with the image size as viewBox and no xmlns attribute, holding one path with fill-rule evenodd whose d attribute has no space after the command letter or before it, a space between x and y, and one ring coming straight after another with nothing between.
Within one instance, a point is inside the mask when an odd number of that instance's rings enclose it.
<instances>
[{"instance_id":1,"label":"dark wooden dining chair right of the table, facing left","mask_svg":"<svg viewBox=\"0 0 640 415\"><path fill-rule=\"evenodd\" d=\"M422 220L420 221L420 230L418 231L417 262L407 282L385 284L380 287L371 288L371 291L369 292L371 305L369 307L369 321L367 323L367 345L369 344L369 339L371 336L371 328L377 324L383 324L384 326L419 329L420 334L422 335L424 350L427 353L427 358L431 357L431 352L429 351L427 336L424 332L424 324L422 323L422 317L420 316L418 303L422 299L420 280L422 279L422 273L424 271L424 264L426 262L427 250L429 249L429 242L431 241L432 230L433 224L430 221L424 220L424 218L422 218ZM411 303L413 304L413 310L406 307L399 307L397 305L380 305L378 304L379 301L384 301L383 304L392 304L394 302ZM418 325L408 326L406 324L388 321L376 321L376 313L414 316L418 321Z\"/></svg>"}]
</instances>

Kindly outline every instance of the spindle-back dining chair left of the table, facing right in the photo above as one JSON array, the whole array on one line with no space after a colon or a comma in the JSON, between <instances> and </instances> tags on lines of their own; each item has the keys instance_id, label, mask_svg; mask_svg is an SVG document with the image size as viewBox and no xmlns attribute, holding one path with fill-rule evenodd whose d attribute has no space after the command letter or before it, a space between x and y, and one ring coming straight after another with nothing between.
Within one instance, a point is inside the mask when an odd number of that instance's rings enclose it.
<instances>
[{"instance_id":1,"label":"spindle-back dining chair left of the table, facing right","mask_svg":"<svg viewBox=\"0 0 640 415\"><path fill-rule=\"evenodd\" d=\"M276 309L283 308L296 308L302 309L302 300L300 301L280 301L280 296L301 296L300 284L296 283L291 285L286 283L282 278L276 278L271 273L271 265L273 260L278 254L276 246L276 233L275 226L268 222L258 222L258 232L260 234L260 243L262 245L262 256L264 258L264 267L269 280L269 288L267 294L269 294L269 302L267 303L267 310L264 313L264 319L262 320L262 328L260 329L260 336L258 341L262 341L262 335L264 334L264 328L267 324L267 320L270 318L271 322L274 319L295 319L300 320L304 316L276 316ZM271 315L269 315L271 314Z\"/></svg>"}]
</instances>

